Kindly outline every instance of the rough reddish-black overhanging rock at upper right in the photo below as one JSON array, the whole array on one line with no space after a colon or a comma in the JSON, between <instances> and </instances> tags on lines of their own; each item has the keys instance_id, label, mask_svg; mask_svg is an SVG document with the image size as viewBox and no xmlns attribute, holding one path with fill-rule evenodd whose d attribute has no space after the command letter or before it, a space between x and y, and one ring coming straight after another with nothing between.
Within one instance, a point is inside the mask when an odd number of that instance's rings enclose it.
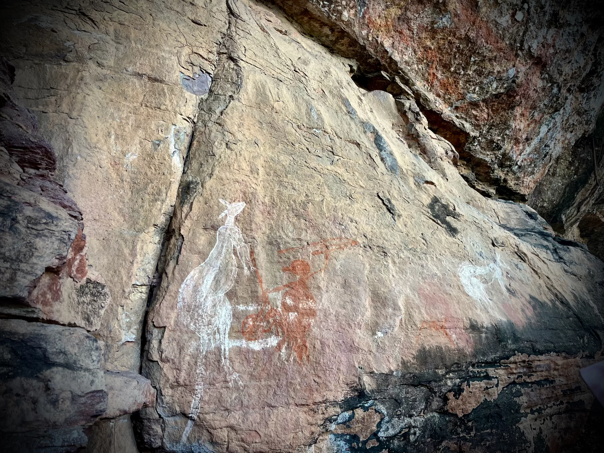
<instances>
[{"instance_id":1,"label":"rough reddish-black overhanging rock at upper right","mask_svg":"<svg viewBox=\"0 0 604 453\"><path fill-rule=\"evenodd\" d=\"M399 79L408 85L431 129L460 153L460 173L476 190L529 200L570 239L589 242L604 234L600 208L591 208L597 199L591 137L588 153L582 152L604 101L599 5L276 3L328 47L361 56L359 85L395 94ZM576 164L566 164L577 158L580 175ZM583 187L589 199L579 193ZM582 236L577 225L584 216ZM592 249L598 253L595 244Z\"/></svg>"}]
</instances>

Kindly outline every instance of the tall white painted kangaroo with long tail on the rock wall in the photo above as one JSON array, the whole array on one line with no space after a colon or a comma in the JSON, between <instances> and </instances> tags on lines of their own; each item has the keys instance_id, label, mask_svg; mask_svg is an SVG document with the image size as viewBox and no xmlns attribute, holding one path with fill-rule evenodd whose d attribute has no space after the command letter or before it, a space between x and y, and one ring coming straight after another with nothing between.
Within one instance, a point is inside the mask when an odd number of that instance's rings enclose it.
<instances>
[{"instance_id":1,"label":"tall white painted kangaroo with long tail on the rock wall","mask_svg":"<svg viewBox=\"0 0 604 453\"><path fill-rule=\"evenodd\" d=\"M243 242L241 230L235 226L235 216L245 208L244 202L229 203L218 217L226 216L225 224L216 232L216 245L207 259L185 278L178 292L178 320L199 337L196 387L191 402L187 428L182 433L181 444L187 440L199 414L203 393L204 356L209 350L220 347L222 364L230 379L238 379L228 362L230 341L228 333L233 319L231 304L226 293L233 288L237 277L237 251L245 274L252 268L249 246Z\"/></svg>"}]
</instances>

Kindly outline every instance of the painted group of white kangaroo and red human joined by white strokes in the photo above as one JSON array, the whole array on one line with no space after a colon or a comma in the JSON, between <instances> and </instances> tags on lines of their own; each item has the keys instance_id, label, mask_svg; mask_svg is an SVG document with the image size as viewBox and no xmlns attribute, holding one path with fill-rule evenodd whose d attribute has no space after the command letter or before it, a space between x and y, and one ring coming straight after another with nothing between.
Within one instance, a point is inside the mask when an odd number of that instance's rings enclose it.
<instances>
[{"instance_id":1,"label":"painted group of white kangaroo and red human joined by white strokes","mask_svg":"<svg viewBox=\"0 0 604 453\"><path fill-rule=\"evenodd\" d=\"M278 255L301 255L306 252L309 260L323 255L323 266L312 272L309 261L294 259L281 270L294 275L295 280L266 289L263 287L254 253L244 242L242 231L235 225L235 217L243 211L245 202L230 203L222 199L220 202L226 207L219 216L226 217L225 225L218 228L216 243L207 259L187 275L178 293L178 315L173 329L185 327L198 337L198 344L189 350L197 356L194 377L196 384L188 411L189 420L182 432L180 445L186 445L199 414L204 385L207 385L204 381L208 380L204 373L205 356L211 350L220 350L224 371L235 388L243 387L245 382L230 365L231 347L260 350L274 346L275 353L284 361L295 360L300 365L305 361L309 362L307 336L317 313L316 300L307 281L327 268L333 252L358 245L355 240L333 238L312 242L306 246L281 249L277 251ZM233 321L233 307L226 293L236 284L239 263L243 266L245 275L255 271L262 293L262 304L259 312L247 316L242 321L243 339L232 340L229 332ZM269 294L278 294L277 306L271 306Z\"/></svg>"}]
</instances>

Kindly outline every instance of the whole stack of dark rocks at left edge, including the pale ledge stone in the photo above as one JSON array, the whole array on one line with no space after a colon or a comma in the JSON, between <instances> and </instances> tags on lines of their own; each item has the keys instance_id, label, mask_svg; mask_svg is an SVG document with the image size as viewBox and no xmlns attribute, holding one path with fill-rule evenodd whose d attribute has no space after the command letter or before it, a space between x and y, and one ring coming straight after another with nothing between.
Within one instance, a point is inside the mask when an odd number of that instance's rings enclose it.
<instances>
[{"instance_id":1,"label":"whole stack of dark rocks at left edge, including the pale ledge stone","mask_svg":"<svg viewBox=\"0 0 604 453\"><path fill-rule=\"evenodd\" d=\"M0 59L0 315L97 330L111 295L89 269L82 212L54 179L56 153L16 94L14 79L14 66ZM140 374L104 372L104 343L86 330L0 324L4 448L77 451L99 417L153 405L155 389Z\"/></svg>"}]
</instances>

